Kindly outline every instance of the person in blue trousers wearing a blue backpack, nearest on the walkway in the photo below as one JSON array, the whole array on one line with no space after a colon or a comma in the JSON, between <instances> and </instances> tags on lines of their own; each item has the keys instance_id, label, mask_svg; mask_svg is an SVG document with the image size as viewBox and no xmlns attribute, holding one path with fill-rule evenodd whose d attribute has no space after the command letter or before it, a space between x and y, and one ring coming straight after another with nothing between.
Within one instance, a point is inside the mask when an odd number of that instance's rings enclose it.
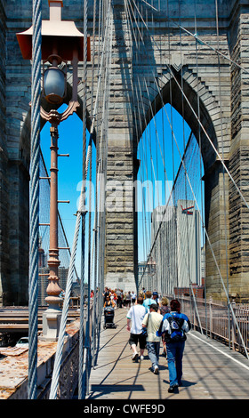
<instances>
[{"instance_id":1,"label":"person in blue trousers wearing a blue backpack, nearest on the walkway","mask_svg":"<svg viewBox=\"0 0 249 418\"><path fill-rule=\"evenodd\" d=\"M182 385L182 357L185 348L186 334L191 325L189 318L181 313L181 303L176 299L170 302L171 311L166 313L157 336L165 334L167 361L170 378L170 387L168 392L175 392Z\"/></svg>"}]
</instances>

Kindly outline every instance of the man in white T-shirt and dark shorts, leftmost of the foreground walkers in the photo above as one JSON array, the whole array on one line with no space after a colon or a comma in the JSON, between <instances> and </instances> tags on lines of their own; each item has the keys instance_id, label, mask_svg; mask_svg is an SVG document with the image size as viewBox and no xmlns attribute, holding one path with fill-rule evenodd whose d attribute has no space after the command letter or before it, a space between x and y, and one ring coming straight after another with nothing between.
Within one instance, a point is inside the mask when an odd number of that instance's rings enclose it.
<instances>
[{"instance_id":1,"label":"man in white T-shirt and dark shorts, leftmost of the foreground walkers","mask_svg":"<svg viewBox=\"0 0 249 418\"><path fill-rule=\"evenodd\" d=\"M146 337L142 334L142 320L146 314L146 309L142 306L143 298L138 297L137 304L133 305L127 313L127 331L130 331L129 343L133 349L133 361L138 357L137 344L140 343L141 360L146 346Z\"/></svg>"}]
</instances>

